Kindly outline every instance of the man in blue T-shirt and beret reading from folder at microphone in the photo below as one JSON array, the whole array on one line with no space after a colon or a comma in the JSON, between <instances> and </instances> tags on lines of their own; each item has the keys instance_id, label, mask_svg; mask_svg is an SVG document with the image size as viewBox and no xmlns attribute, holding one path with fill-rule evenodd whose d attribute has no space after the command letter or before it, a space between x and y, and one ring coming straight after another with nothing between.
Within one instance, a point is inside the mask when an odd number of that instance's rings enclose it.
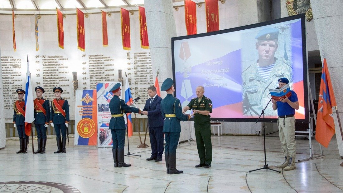
<instances>
[{"instance_id":1,"label":"man in blue T-shirt and beret reading from folder at microphone","mask_svg":"<svg viewBox=\"0 0 343 193\"><path fill-rule=\"evenodd\" d=\"M289 83L287 78L279 78L279 88L281 89ZM284 170L293 170L295 167L295 110L299 109L297 94L292 90L289 98L280 98L280 101L272 99L273 110L277 109L277 125L279 126L279 136L281 148L285 155L285 162L276 166Z\"/></svg>"}]
</instances>

